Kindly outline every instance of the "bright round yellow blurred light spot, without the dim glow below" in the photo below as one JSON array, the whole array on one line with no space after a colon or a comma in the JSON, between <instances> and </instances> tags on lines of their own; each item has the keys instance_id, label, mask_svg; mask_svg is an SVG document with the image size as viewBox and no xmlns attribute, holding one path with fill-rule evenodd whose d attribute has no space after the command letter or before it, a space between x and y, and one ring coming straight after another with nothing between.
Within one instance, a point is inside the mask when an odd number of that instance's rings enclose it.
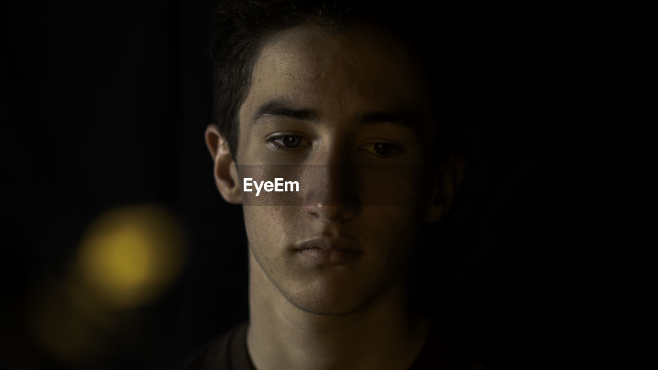
<instances>
[{"instance_id":1,"label":"bright round yellow blurred light spot, without the dim glow below","mask_svg":"<svg viewBox=\"0 0 658 370\"><path fill-rule=\"evenodd\" d=\"M180 226L156 206L101 214L88 229L77 258L79 277L93 298L124 310L156 298L178 275Z\"/></svg>"}]
</instances>

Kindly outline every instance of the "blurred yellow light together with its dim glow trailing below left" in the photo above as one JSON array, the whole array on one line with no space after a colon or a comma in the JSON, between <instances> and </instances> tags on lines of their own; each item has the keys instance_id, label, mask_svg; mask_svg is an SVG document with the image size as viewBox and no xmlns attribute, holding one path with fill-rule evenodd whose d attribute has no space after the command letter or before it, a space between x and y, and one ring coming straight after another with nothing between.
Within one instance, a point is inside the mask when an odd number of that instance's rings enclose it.
<instances>
[{"instance_id":1,"label":"blurred yellow light together with its dim glow trailing below left","mask_svg":"<svg viewBox=\"0 0 658 370\"><path fill-rule=\"evenodd\" d=\"M133 309L157 298L178 275L182 240L176 218L157 206L116 208L98 216L68 275L49 279L32 293L27 317L36 344L76 366L111 356L139 330L139 311Z\"/></svg>"}]
</instances>

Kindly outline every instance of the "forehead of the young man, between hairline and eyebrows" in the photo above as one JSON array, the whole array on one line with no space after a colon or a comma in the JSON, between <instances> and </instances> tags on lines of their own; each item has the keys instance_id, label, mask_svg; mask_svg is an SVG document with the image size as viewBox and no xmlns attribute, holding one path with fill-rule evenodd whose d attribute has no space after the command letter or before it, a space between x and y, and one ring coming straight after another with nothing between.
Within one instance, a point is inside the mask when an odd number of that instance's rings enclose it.
<instances>
[{"instance_id":1,"label":"forehead of the young man, between hairline and eyebrows","mask_svg":"<svg viewBox=\"0 0 658 370\"><path fill-rule=\"evenodd\" d=\"M422 70L411 48L378 28L353 26L328 35L305 24L280 32L263 47L241 121L272 100L313 109L332 122L383 110L428 120L430 94Z\"/></svg>"}]
</instances>

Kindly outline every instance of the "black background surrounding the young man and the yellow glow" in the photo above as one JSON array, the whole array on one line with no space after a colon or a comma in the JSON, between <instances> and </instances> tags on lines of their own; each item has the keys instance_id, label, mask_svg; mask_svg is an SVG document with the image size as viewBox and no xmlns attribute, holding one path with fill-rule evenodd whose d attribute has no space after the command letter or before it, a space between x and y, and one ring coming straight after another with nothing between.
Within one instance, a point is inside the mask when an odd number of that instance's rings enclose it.
<instances>
[{"instance_id":1,"label":"black background surrounding the young man and the yellow glow","mask_svg":"<svg viewBox=\"0 0 658 370\"><path fill-rule=\"evenodd\" d=\"M203 142L214 3L0 9L0 365L72 367L26 329L30 292L57 282L89 222L124 204L178 215L186 266L78 367L166 368L247 318L241 210L219 197ZM428 294L494 364L632 368L648 358L653 323L646 11L526 1L465 10L469 167L437 227L431 267L442 273Z\"/></svg>"}]
</instances>

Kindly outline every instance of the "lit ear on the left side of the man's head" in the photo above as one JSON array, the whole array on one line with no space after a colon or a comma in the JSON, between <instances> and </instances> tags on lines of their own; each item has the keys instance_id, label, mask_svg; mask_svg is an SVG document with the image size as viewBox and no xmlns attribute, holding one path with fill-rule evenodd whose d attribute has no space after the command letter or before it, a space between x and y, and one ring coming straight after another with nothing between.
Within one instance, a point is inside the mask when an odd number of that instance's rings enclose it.
<instances>
[{"instance_id":1,"label":"lit ear on the left side of the man's head","mask_svg":"<svg viewBox=\"0 0 658 370\"><path fill-rule=\"evenodd\" d=\"M236 170L236 162L228 148L228 140L219 133L215 124L207 127L205 140L215 162L215 184L219 193L226 202L240 204L242 202L240 179Z\"/></svg>"}]
</instances>

